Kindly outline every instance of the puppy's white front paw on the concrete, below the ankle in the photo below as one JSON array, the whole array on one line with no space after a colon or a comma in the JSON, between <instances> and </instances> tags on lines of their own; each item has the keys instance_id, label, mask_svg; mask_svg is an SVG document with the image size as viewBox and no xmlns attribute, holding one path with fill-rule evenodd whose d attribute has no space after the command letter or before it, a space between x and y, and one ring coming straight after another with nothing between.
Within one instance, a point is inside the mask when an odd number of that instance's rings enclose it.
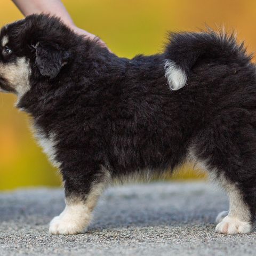
<instances>
[{"instance_id":1,"label":"puppy's white front paw on the concrete, below the ankle","mask_svg":"<svg viewBox=\"0 0 256 256\"><path fill-rule=\"evenodd\" d=\"M84 233L85 226L81 220L65 218L65 216L56 216L50 222L50 234L79 234Z\"/></svg>"}]
</instances>

